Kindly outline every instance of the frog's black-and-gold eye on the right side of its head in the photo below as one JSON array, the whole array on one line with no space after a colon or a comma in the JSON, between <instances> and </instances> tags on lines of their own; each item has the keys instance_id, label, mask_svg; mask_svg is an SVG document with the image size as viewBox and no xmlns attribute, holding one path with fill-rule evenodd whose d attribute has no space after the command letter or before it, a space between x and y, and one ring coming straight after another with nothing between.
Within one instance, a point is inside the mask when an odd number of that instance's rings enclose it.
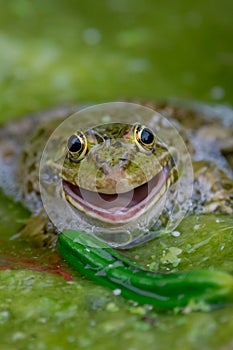
<instances>
[{"instance_id":1,"label":"frog's black-and-gold eye on the right side of its head","mask_svg":"<svg viewBox=\"0 0 233 350\"><path fill-rule=\"evenodd\" d=\"M153 150L155 145L155 135L149 128L143 125L135 125L134 139L139 150L144 152Z\"/></svg>"}]
</instances>

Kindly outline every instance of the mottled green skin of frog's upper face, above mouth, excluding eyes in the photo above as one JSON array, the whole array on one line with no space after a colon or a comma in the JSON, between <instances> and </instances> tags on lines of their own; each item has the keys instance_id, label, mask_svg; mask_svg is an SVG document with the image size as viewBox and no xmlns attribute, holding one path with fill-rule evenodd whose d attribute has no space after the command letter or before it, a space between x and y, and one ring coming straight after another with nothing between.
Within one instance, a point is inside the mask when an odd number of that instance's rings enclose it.
<instances>
[{"instance_id":1,"label":"mottled green skin of frog's upper face, above mouth, excluding eyes","mask_svg":"<svg viewBox=\"0 0 233 350\"><path fill-rule=\"evenodd\" d=\"M143 153L138 150L131 129L128 124L114 123L86 131L89 152L77 163L66 157L64 179L90 191L114 194L116 180L122 179L120 186L117 182L117 192L123 193L151 180L166 164L173 168L171 154L163 144L156 140L153 152ZM80 167L83 176L79 176ZM177 177L175 170L171 177Z\"/></svg>"}]
</instances>

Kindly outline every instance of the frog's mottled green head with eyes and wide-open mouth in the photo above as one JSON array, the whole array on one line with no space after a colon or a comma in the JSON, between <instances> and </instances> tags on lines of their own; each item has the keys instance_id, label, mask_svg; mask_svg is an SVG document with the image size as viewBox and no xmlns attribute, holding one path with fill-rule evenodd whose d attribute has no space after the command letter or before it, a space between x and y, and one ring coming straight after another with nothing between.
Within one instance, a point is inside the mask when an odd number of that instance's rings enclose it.
<instances>
[{"instance_id":1,"label":"frog's mottled green head with eyes and wide-open mouth","mask_svg":"<svg viewBox=\"0 0 233 350\"><path fill-rule=\"evenodd\" d=\"M66 200L91 218L127 223L154 205L177 179L174 160L140 124L103 124L67 140Z\"/></svg>"}]
</instances>

